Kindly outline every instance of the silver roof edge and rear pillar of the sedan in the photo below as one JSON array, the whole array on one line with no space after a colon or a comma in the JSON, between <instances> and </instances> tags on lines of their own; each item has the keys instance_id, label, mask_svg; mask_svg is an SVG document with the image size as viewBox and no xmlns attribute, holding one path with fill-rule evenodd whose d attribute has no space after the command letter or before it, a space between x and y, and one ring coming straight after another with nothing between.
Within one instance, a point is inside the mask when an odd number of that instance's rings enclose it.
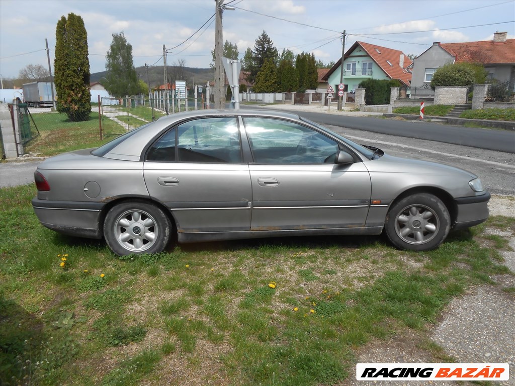
<instances>
[{"instance_id":1,"label":"silver roof edge and rear pillar of the sedan","mask_svg":"<svg viewBox=\"0 0 515 386\"><path fill-rule=\"evenodd\" d=\"M299 115L287 113L284 111L267 110L267 109L206 109L187 111L176 114L170 114L160 117L158 120L147 124L143 130L128 137L125 141L119 143L104 155L105 158L126 161L140 161L141 153L147 144L159 135L163 130L170 126L174 126L183 120L202 118L202 117L220 117L220 116L260 116L269 118L282 118L298 120Z\"/></svg>"}]
</instances>

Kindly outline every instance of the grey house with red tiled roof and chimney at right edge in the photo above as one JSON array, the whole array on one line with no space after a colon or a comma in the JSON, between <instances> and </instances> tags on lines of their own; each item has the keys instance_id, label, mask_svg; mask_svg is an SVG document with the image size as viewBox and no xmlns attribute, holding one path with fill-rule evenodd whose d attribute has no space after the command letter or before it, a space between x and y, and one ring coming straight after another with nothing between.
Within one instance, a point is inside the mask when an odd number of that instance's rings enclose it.
<instances>
[{"instance_id":1,"label":"grey house with red tiled roof and chimney at right edge","mask_svg":"<svg viewBox=\"0 0 515 386\"><path fill-rule=\"evenodd\" d=\"M495 32L492 40L433 45L415 58L411 84L431 82L434 72L447 63L481 63L491 79L515 81L515 39L506 39L507 32Z\"/></svg>"}]
</instances>

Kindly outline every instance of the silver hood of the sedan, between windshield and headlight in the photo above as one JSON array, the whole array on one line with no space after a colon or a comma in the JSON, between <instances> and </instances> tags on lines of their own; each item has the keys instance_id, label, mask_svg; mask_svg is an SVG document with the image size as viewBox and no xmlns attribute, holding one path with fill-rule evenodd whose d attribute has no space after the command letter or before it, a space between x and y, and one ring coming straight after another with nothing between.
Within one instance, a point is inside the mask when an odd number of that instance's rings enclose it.
<instances>
[{"instance_id":1,"label":"silver hood of the sedan, between windshield and headlight","mask_svg":"<svg viewBox=\"0 0 515 386\"><path fill-rule=\"evenodd\" d=\"M376 160L367 162L369 171L376 172L405 172L405 173L423 173L423 174L459 174L467 175L470 179L477 176L470 171L458 168L456 166L437 162L420 156L413 156L403 152L389 152Z\"/></svg>"}]
</instances>

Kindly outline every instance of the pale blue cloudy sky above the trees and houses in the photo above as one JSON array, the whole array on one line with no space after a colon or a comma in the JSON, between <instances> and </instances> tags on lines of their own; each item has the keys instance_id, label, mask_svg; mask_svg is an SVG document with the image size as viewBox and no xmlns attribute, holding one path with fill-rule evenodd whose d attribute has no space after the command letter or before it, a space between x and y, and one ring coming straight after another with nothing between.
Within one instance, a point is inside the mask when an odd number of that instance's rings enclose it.
<instances>
[{"instance_id":1,"label":"pale blue cloudy sky above the trees and houses","mask_svg":"<svg viewBox=\"0 0 515 386\"><path fill-rule=\"evenodd\" d=\"M279 52L284 48L295 54L313 52L316 60L324 63L341 57L340 37L344 30L346 50L354 42L363 41L415 56L433 42L491 40L496 31L508 32L509 39L515 38L515 0L225 3L235 9L223 12L223 38L237 45L240 59L248 47L254 47L263 31ZM0 0L2 78L18 77L20 69L28 64L48 68L45 38L54 73L56 25L68 13L84 20L91 73L105 71L112 34L122 31L132 45L135 67L145 63L162 65L163 44L168 50L168 65L179 60L187 67L210 65L215 44L214 0Z\"/></svg>"}]
</instances>

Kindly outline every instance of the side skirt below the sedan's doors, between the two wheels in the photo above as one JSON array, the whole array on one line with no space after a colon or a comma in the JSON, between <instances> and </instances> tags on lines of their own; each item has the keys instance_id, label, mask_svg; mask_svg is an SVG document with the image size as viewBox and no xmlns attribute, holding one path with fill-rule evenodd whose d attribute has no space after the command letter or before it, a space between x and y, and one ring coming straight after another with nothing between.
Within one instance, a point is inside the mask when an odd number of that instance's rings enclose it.
<instances>
[{"instance_id":1,"label":"side skirt below the sedan's doors, between the two wheels","mask_svg":"<svg viewBox=\"0 0 515 386\"><path fill-rule=\"evenodd\" d=\"M383 232L383 225L349 227L349 228L324 228L324 229L303 229L303 230L280 230L280 231L241 231L241 232L179 232L177 239L180 243L193 243L202 241L242 240L265 237L287 237L287 236L370 236L380 235Z\"/></svg>"}]
</instances>

